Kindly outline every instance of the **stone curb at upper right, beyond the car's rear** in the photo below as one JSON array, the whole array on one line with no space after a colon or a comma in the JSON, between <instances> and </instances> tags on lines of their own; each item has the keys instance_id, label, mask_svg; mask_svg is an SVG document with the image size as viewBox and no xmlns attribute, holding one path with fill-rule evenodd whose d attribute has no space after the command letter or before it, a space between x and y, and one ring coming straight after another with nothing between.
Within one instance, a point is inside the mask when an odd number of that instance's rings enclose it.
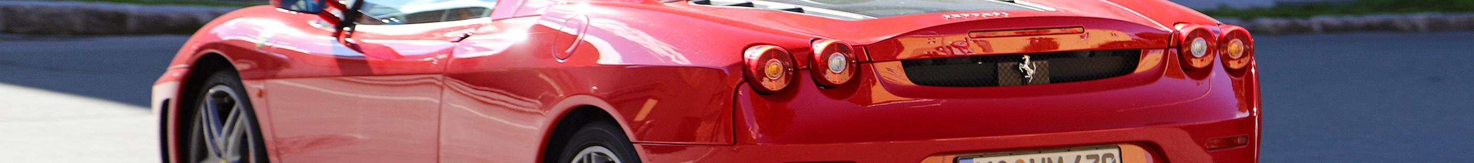
<instances>
[{"instance_id":1,"label":"stone curb at upper right, beyond the car's rear","mask_svg":"<svg viewBox=\"0 0 1474 163\"><path fill-rule=\"evenodd\" d=\"M1240 25L1253 34L1321 34L1359 31L1474 31L1474 13L1406 13L1315 18L1260 18L1243 21L1219 18L1223 23Z\"/></svg>"}]
</instances>

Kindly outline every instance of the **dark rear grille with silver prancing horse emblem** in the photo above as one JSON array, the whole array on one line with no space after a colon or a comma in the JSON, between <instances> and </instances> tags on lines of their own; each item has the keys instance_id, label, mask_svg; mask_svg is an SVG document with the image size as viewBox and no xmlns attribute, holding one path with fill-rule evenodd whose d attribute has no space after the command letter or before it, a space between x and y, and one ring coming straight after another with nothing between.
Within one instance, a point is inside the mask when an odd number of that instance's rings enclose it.
<instances>
[{"instance_id":1,"label":"dark rear grille with silver prancing horse emblem","mask_svg":"<svg viewBox=\"0 0 1474 163\"><path fill-rule=\"evenodd\" d=\"M1029 53L1033 79L1023 78L1019 65L1026 54L989 54L901 60L907 76L930 87L1036 85L1104 79L1136 69L1141 50L1092 50Z\"/></svg>"}]
</instances>

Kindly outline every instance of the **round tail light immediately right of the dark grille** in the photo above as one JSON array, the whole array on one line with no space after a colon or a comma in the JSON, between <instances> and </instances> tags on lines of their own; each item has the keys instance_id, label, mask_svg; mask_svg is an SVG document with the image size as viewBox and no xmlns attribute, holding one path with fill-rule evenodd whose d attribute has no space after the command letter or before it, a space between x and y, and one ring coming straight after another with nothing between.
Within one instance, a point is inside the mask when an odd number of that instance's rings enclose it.
<instances>
[{"instance_id":1,"label":"round tail light immediately right of the dark grille","mask_svg":"<svg viewBox=\"0 0 1474 163\"><path fill-rule=\"evenodd\" d=\"M1213 32L1197 26L1197 25L1178 25L1176 34L1178 54L1181 54L1179 62L1182 62L1184 69L1203 69L1213 65L1213 57L1218 54L1218 37Z\"/></svg>"}]
</instances>

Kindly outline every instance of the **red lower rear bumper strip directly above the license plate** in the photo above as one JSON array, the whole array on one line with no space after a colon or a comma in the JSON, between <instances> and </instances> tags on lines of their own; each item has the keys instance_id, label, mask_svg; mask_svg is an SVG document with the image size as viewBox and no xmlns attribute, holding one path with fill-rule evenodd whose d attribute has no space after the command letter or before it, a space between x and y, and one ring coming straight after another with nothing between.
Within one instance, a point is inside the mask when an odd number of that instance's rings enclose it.
<instances>
[{"instance_id":1,"label":"red lower rear bumper strip directly above the license plate","mask_svg":"<svg viewBox=\"0 0 1474 163\"><path fill-rule=\"evenodd\" d=\"M1038 135L845 144L635 144L646 163L952 163L958 156L1119 145L1123 163L1257 163L1259 116L1176 126ZM1250 135L1244 147L1204 150L1209 138ZM840 135L836 135L840 137ZM1136 153L1134 153L1136 151Z\"/></svg>"}]
</instances>

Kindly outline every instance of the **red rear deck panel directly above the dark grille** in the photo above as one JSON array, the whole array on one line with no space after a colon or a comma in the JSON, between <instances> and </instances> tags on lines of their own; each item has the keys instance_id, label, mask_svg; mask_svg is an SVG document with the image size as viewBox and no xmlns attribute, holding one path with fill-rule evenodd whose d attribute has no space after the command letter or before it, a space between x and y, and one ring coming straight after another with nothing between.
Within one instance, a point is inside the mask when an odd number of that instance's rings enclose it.
<instances>
[{"instance_id":1,"label":"red rear deck panel directly above the dark grille","mask_svg":"<svg viewBox=\"0 0 1474 163\"><path fill-rule=\"evenodd\" d=\"M1004 34L1004 35L996 35ZM921 28L867 46L870 60L1166 48L1172 32L1106 18L1029 16Z\"/></svg>"}]
</instances>

